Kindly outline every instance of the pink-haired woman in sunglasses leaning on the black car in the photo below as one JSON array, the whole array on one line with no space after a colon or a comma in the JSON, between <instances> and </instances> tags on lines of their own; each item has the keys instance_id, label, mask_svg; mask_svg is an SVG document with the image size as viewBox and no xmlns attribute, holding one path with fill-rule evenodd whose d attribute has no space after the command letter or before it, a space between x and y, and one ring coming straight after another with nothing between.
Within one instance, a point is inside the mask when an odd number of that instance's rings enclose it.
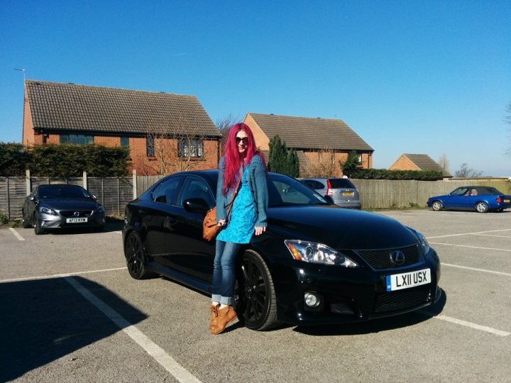
<instances>
[{"instance_id":1,"label":"pink-haired woman in sunglasses leaning on the black car","mask_svg":"<svg viewBox=\"0 0 511 383\"><path fill-rule=\"evenodd\" d=\"M250 242L253 234L261 235L266 231L266 174L263 153L255 148L250 128L245 123L234 124L227 137L224 156L219 162L216 187L216 219L221 231L216 237L213 269L209 323L212 334L221 333L236 318L232 308L236 255L243 244ZM231 213L226 216L239 177L241 182Z\"/></svg>"}]
</instances>

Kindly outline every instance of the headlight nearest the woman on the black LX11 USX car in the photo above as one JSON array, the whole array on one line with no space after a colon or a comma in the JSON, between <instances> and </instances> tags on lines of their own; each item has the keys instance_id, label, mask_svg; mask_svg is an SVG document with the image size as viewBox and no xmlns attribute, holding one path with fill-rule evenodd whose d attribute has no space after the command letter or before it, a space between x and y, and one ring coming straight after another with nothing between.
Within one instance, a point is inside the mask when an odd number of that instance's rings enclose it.
<instances>
[{"instance_id":1,"label":"headlight nearest the woman on the black LX11 USX car","mask_svg":"<svg viewBox=\"0 0 511 383\"><path fill-rule=\"evenodd\" d=\"M321 263L323 265L358 267L358 265L346 257L346 255L322 243L307 242L304 240L285 240L284 243L295 260Z\"/></svg>"}]
</instances>

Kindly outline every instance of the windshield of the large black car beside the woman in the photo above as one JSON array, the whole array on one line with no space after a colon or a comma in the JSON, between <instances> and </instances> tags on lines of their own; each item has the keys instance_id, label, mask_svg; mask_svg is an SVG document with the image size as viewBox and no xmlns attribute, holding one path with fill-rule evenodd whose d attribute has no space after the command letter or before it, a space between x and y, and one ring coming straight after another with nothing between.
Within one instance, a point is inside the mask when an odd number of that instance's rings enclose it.
<instances>
[{"instance_id":1,"label":"windshield of the large black car beside the woman","mask_svg":"<svg viewBox=\"0 0 511 383\"><path fill-rule=\"evenodd\" d=\"M329 205L320 194L282 174L270 174L268 179L269 206Z\"/></svg>"}]
</instances>

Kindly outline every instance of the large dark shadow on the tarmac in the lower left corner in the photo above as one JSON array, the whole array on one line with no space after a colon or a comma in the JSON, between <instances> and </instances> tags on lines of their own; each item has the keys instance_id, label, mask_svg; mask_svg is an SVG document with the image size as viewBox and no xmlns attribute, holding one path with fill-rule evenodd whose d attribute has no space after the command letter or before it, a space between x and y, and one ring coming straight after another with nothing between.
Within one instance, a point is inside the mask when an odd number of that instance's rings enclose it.
<instances>
[{"instance_id":1,"label":"large dark shadow on the tarmac in the lower left corner","mask_svg":"<svg viewBox=\"0 0 511 383\"><path fill-rule=\"evenodd\" d=\"M101 284L72 277L131 324L147 318ZM0 382L121 329L63 278L0 283Z\"/></svg>"}]
</instances>

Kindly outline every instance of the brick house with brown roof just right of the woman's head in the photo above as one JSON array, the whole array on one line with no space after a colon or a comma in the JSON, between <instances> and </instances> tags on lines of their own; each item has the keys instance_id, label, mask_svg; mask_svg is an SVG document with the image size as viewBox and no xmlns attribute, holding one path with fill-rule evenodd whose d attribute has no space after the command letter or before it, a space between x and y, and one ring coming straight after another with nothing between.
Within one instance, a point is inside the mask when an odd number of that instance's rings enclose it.
<instances>
[{"instance_id":1,"label":"brick house with brown roof just right of the woman's head","mask_svg":"<svg viewBox=\"0 0 511 383\"><path fill-rule=\"evenodd\" d=\"M373 167L373 148L342 120L247 113L243 122L251 127L255 143L263 152L270 149L275 135L285 141L287 148L297 150L301 176L317 175L310 174L314 167L309 165L325 161L341 176L339 161L346 161L353 150L358 153L361 167Z\"/></svg>"}]
</instances>

